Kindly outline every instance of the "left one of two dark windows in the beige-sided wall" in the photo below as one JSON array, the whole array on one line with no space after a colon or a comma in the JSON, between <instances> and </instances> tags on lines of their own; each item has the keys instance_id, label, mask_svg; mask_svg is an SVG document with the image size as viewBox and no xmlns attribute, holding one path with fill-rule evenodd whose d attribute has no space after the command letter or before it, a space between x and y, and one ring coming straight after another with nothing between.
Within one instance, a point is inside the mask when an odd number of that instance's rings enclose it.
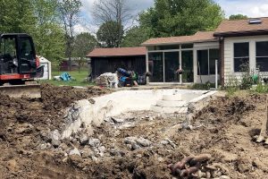
<instances>
[{"instance_id":1,"label":"left one of two dark windows in the beige-sided wall","mask_svg":"<svg viewBox=\"0 0 268 179\"><path fill-rule=\"evenodd\" d=\"M249 70L249 43L234 43L234 72Z\"/></svg>"}]
</instances>

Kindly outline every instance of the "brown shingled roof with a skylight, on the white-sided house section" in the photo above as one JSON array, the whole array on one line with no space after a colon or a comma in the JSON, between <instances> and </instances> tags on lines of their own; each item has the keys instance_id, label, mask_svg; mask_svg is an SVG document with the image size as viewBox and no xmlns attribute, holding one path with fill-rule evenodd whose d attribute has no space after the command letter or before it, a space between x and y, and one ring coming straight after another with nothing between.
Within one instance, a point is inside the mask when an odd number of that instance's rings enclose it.
<instances>
[{"instance_id":1,"label":"brown shingled roof with a skylight, on the white-sided house section","mask_svg":"<svg viewBox=\"0 0 268 179\"><path fill-rule=\"evenodd\" d=\"M268 32L268 18L254 18L260 19L261 23L248 23L249 20L224 20L215 30L214 36L238 36L247 34L258 34Z\"/></svg>"}]
</instances>

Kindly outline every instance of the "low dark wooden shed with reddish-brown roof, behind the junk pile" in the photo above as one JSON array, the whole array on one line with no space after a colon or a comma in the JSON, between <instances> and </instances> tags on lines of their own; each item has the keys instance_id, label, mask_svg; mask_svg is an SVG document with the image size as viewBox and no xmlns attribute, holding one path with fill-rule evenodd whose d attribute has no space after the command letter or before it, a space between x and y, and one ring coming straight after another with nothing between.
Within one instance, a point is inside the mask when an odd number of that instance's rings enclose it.
<instances>
[{"instance_id":1,"label":"low dark wooden shed with reddish-brown roof, behind the junk pile","mask_svg":"<svg viewBox=\"0 0 268 179\"><path fill-rule=\"evenodd\" d=\"M146 47L95 48L90 58L91 75L96 79L105 72L115 72L124 68L144 74L146 72Z\"/></svg>"}]
</instances>

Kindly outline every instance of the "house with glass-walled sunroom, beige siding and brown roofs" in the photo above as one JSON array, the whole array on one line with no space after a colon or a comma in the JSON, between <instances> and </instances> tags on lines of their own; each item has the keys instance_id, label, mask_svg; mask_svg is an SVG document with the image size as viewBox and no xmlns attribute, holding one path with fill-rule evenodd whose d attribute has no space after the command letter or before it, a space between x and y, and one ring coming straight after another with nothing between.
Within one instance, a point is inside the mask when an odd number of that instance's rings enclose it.
<instances>
[{"instance_id":1,"label":"house with glass-walled sunroom, beige siding and brown roofs","mask_svg":"<svg viewBox=\"0 0 268 179\"><path fill-rule=\"evenodd\" d=\"M241 79L243 66L268 72L268 18L222 21L215 31L192 36L151 38L147 48L150 83L215 82L215 61L222 85L231 76ZM176 73L182 69L181 75Z\"/></svg>"}]
</instances>

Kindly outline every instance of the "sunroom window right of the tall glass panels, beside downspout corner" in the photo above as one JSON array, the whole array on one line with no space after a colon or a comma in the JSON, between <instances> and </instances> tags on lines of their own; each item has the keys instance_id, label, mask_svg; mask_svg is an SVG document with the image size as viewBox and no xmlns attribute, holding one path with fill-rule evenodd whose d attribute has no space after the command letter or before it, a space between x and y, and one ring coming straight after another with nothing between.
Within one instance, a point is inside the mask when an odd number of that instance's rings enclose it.
<instances>
[{"instance_id":1,"label":"sunroom window right of the tall glass panels, beside downspout corner","mask_svg":"<svg viewBox=\"0 0 268 179\"><path fill-rule=\"evenodd\" d=\"M215 60L219 60L219 49L197 50L197 74L215 74Z\"/></svg>"}]
</instances>

